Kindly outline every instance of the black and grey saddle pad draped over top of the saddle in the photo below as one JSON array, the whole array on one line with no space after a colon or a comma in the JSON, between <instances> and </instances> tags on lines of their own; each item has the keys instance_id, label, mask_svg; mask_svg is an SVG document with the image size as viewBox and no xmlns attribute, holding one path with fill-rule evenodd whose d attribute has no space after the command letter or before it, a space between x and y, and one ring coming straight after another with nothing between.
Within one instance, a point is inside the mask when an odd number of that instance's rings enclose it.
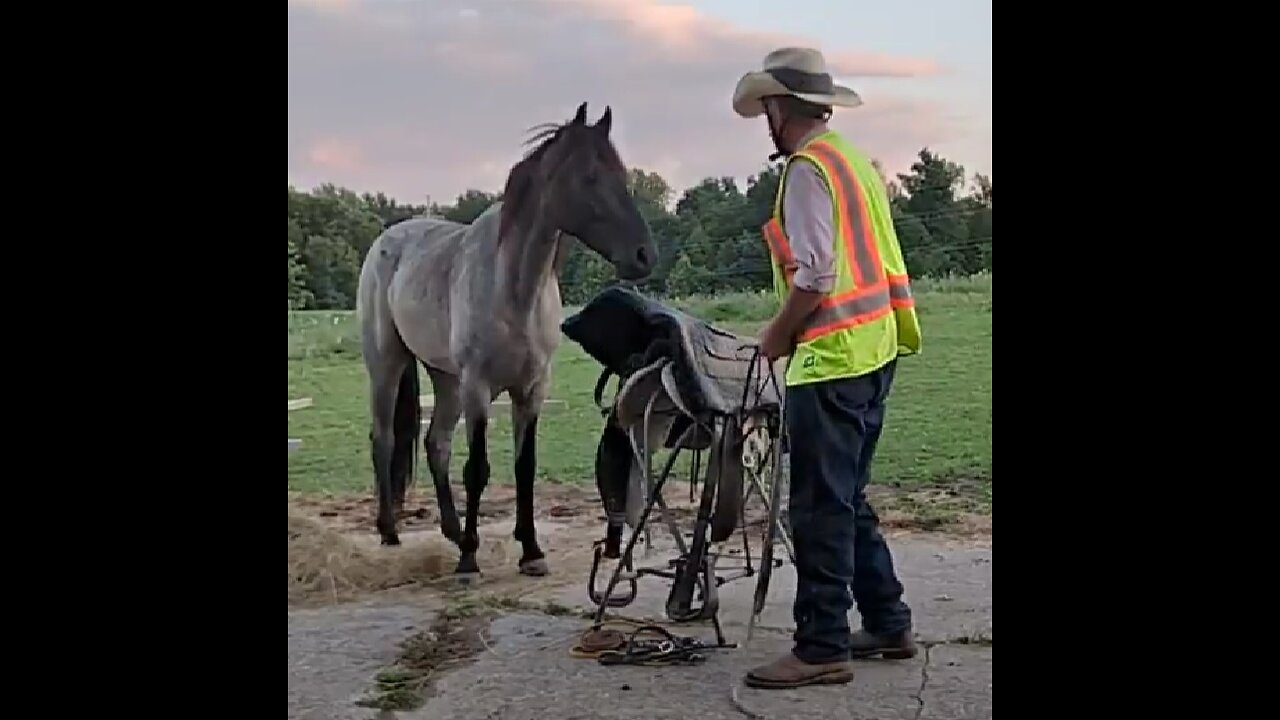
<instances>
[{"instance_id":1,"label":"black and grey saddle pad draped over top of the saddle","mask_svg":"<svg viewBox=\"0 0 1280 720\"><path fill-rule=\"evenodd\" d=\"M782 405L768 365L756 360L755 338L719 329L631 288L604 290L561 329L620 378L667 360L667 395L692 418Z\"/></svg>"}]
</instances>

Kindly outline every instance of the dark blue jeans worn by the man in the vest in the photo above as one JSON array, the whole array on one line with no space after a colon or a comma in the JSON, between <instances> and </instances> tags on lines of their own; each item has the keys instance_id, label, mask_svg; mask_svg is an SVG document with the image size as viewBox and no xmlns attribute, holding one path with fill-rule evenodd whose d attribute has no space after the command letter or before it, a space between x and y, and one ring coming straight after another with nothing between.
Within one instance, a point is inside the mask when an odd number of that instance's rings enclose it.
<instances>
[{"instance_id":1,"label":"dark blue jeans worn by the man in the vest","mask_svg":"<svg viewBox=\"0 0 1280 720\"><path fill-rule=\"evenodd\" d=\"M849 659L854 602L869 633L911 626L879 518L864 495L896 364L787 388L797 577L794 652L806 662Z\"/></svg>"}]
</instances>

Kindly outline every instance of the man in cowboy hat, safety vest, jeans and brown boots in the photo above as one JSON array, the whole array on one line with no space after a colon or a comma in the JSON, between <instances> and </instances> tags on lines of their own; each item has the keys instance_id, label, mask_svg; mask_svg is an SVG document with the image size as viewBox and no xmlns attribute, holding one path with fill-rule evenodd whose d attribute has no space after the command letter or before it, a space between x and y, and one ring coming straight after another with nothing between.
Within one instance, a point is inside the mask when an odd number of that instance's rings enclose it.
<instances>
[{"instance_id":1,"label":"man in cowboy hat, safety vest, jeans and brown boots","mask_svg":"<svg viewBox=\"0 0 1280 720\"><path fill-rule=\"evenodd\" d=\"M733 110L764 115L774 156L787 158L764 225L782 307L759 341L771 361L790 355L796 632L791 653L748 673L751 687L847 683L850 659L915 655L911 611L864 489L897 357L920 351L920 325L883 181L826 123L833 106L860 104L820 53L799 47L771 53L733 92Z\"/></svg>"}]
</instances>

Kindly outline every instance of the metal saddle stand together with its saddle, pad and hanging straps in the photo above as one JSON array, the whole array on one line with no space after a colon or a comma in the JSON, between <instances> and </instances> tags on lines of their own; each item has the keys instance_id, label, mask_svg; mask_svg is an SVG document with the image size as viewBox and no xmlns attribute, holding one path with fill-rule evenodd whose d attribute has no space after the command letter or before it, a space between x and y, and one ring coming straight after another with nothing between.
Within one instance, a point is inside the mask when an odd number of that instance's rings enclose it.
<instances>
[{"instance_id":1,"label":"metal saddle stand together with its saddle, pad and hanging straps","mask_svg":"<svg viewBox=\"0 0 1280 720\"><path fill-rule=\"evenodd\" d=\"M760 359L756 343L714 328L643 295L612 287L598 295L581 313L562 325L566 336L604 365L595 387L605 428L596 450L596 483L608 515L608 533L595 544L588 594L596 606L594 626L604 621L609 607L635 601L637 580L655 575L671 580L667 618L675 623L710 620L716 644L730 648L719 623L718 588L741 578L755 577L746 523L746 500L758 492L768 509L763 533L760 571L756 580L755 615L763 610L772 570L773 542L781 539L794 552L781 515L783 475L782 392L777 373ZM600 397L611 375L618 375L613 402ZM658 447L671 451L662 473L654 478L653 457ZM701 497L690 542L685 542L663 487L681 452L692 452L690 495L701 475ZM700 473L703 454L709 457ZM765 478L765 468L771 468ZM750 482L744 483L744 475ZM768 488L765 488L768 483ZM662 515L678 556L666 568L635 568L634 551L645 538L652 550L649 520L654 509ZM622 547L623 525L631 528ZM735 530L742 534L742 564L718 570ZM781 530L781 532L780 532ZM617 560L603 591L598 591L602 560ZM732 570L732 571L731 571ZM622 582L625 594L614 594Z\"/></svg>"}]
</instances>

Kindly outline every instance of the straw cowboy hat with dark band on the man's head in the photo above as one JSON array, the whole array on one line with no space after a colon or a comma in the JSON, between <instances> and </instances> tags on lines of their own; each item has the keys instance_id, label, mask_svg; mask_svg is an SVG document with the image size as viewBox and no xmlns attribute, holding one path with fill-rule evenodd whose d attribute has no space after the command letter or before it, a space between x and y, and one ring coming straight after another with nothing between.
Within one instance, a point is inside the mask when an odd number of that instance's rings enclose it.
<instances>
[{"instance_id":1,"label":"straw cowboy hat with dark band on the man's head","mask_svg":"<svg viewBox=\"0 0 1280 720\"><path fill-rule=\"evenodd\" d=\"M764 114L762 99L792 95L818 105L856 108L863 99L836 85L822 53L809 47L782 47L764 56L764 69L746 73L733 90L733 111L744 118Z\"/></svg>"}]
</instances>

